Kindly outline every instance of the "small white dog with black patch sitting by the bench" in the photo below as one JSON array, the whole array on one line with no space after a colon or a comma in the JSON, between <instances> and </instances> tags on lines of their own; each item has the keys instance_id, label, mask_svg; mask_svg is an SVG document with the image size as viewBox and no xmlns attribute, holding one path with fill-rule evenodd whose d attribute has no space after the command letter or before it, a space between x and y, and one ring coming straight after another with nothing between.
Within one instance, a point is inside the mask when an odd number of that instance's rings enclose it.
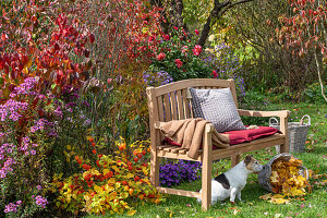
<instances>
[{"instance_id":1,"label":"small white dog with black patch sitting by the bench","mask_svg":"<svg viewBox=\"0 0 327 218\"><path fill-rule=\"evenodd\" d=\"M252 155L247 155L235 167L211 180L211 204L228 197L230 197L232 204L234 204L235 197L242 201L241 191L246 184L247 175L262 170L263 166ZM201 198L197 198L197 201L201 202Z\"/></svg>"}]
</instances>

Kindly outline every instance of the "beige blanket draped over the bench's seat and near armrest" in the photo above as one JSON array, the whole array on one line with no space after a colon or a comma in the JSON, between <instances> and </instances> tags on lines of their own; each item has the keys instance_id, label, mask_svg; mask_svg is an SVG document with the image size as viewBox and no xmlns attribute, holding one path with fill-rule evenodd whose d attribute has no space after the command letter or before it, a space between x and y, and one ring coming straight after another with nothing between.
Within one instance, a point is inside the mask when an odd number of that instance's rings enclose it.
<instances>
[{"instance_id":1,"label":"beige blanket draped over the bench's seat and near armrest","mask_svg":"<svg viewBox=\"0 0 327 218\"><path fill-rule=\"evenodd\" d=\"M172 120L169 122L160 122L159 129L166 137L171 138L173 142L181 144L182 148L187 149L187 157L196 158L206 123L209 123L209 121L202 118ZM217 147L229 147L228 134L221 134L214 130L213 145Z\"/></svg>"}]
</instances>

